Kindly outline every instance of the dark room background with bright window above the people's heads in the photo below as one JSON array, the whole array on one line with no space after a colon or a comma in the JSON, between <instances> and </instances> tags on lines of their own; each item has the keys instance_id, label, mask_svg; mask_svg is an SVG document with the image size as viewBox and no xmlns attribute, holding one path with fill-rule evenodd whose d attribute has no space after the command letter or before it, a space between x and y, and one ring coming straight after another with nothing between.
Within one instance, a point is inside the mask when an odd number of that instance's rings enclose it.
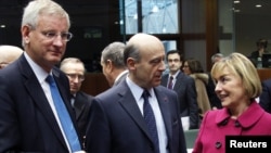
<instances>
[{"instance_id":1,"label":"dark room background with bright window above the people's heads","mask_svg":"<svg viewBox=\"0 0 271 153\"><path fill-rule=\"evenodd\" d=\"M137 33L157 36L166 51L180 50L210 71L210 56L221 52L248 55L256 41L271 42L269 0L55 0L72 20L65 56L76 56L88 69L82 90L95 95L108 85L100 56L113 41L126 42ZM22 47L21 18L28 0L0 0L0 44ZM269 48L268 48L269 49ZM271 77L259 69L261 79Z\"/></svg>"}]
</instances>

